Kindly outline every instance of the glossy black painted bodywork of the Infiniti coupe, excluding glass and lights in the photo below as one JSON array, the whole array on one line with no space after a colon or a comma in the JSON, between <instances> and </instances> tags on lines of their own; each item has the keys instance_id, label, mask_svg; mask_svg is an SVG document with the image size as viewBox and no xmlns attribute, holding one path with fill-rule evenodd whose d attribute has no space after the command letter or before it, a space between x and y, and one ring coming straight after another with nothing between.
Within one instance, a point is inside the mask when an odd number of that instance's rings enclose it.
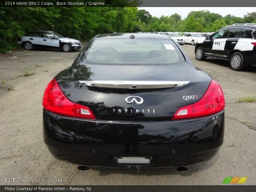
<instances>
[{"instance_id":1,"label":"glossy black painted bodywork of the Infiniti coupe, excluding glass and lights","mask_svg":"<svg viewBox=\"0 0 256 192\"><path fill-rule=\"evenodd\" d=\"M105 34L94 39L129 38L130 35ZM170 39L158 34L133 35L135 38ZM216 154L223 143L224 111L201 118L172 121L178 108L202 98L212 80L194 67L180 45L174 42L184 56L184 62L180 64L114 66L82 62L81 57L88 44L73 65L55 78L66 97L89 107L96 120L62 116L44 110L44 142L53 156L89 166L141 168L197 164ZM172 89L125 90L87 87L79 80L170 80L189 83ZM197 95L198 98L184 100L184 95ZM144 103L128 105L124 102L128 96L140 96ZM113 109L139 109L140 113L123 111L117 114ZM150 109L151 113L141 112L143 109ZM152 113L153 109L155 113ZM116 163L116 158L125 156L152 158L147 165Z\"/></svg>"}]
</instances>

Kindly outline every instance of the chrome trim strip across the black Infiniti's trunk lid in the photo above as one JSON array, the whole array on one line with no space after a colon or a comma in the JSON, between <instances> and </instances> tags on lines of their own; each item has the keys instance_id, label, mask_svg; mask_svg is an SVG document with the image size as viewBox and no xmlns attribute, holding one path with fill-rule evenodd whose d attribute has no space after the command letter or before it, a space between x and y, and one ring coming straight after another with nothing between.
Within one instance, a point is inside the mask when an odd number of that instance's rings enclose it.
<instances>
[{"instance_id":1,"label":"chrome trim strip across the black Infiniti's trunk lid","mask_svg":"<svg viewBox=\"0 0 256 192\"><path fill-rule=\"evenodd\" d=\"M157 89L180 87L189 83L189 81L83 81L79 83L89 87L119 88L119 89Z\"/></svg>"}]
</instances>

